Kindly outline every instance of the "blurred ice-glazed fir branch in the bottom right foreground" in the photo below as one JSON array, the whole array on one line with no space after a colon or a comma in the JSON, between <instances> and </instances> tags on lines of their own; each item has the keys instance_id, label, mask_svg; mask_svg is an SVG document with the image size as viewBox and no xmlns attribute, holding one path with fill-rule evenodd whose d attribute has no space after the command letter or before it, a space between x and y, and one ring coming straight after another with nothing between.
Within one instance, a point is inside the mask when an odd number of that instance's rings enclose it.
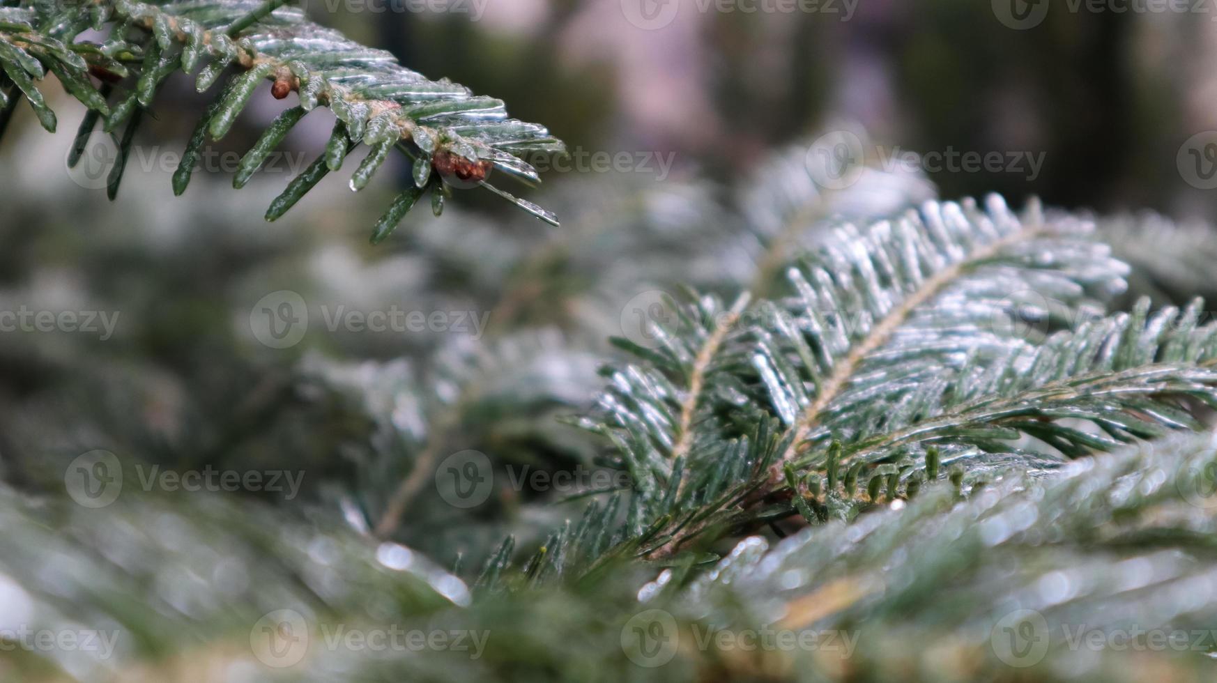
<instances>
[{"instance_id":1,"label":"blurred ice-glazed fir branch in the bottom right foreground","mask_svg":"<svg viewBox=\"0 0 1217 683\"><path fill-rule=\"evenodd\" d=\"M718 605L696 618L727 629L746 621L728 606L738 604L752 605L752 618L781 615L785 628L860 628L865 664L852 666L874 679L901 671L932 679L942 672L935 662L946 660L969 661L968 679L1054 679L1054 670L1078 660L1089 662L1086 679L1134 679L1114 650L1070 646L1071 631L1217 623L1217 600L1185 588L1215 578L1206 538L1215 453L1213 435L1202 432L1083 460L1053 477L1008 472L963 504L949 487L931 487L907 508L832 522L773 550L746 539L663 603ZM1053 580L1067 588L1048 589ZM998 629L1022 612L1043 620L1036 633L1044 646L1011 659ZM947 634L959 629L978 638L952 642ZM932 654L927 643L937 644ZM1211 667L1201 662L1213 645L1204 645L1173 661Z\"/></svg>"}]
</instances>

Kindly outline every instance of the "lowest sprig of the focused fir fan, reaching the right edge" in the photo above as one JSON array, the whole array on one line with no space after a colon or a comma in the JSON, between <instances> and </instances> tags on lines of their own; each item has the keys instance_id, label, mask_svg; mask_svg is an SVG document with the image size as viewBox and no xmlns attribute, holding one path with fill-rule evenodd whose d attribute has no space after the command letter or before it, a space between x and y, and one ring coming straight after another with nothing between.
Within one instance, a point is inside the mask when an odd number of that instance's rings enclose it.
<instances>
[{"instance_id":1,"label":"lowest sprig of the focused fir fan, reaching the right edge","mask_svg":"<svg viewBox=\"0 0 1217 683\"><path fill-rule=\"evenodd\" d=\"M1148 301L1142 307L1144 312ZM974 436L972 447L985 452L1003 438L994 427L1034 436L1069 457L1109 450L1134 438L1161 437L1166 429L1200 430L1201 422L1180 407L1185 399L1217 404L1217 371L1211 368L1217 327L1196 330L1195 310L1179 319L1177 313L1167 309L1144 327L1138 327L1144 320L1120 314L1073 334L1062 332L1030 358L992 371L994 381L958 391L959 403L944 402L940 416L864 440L840 461L876 461L890 458L901 446L940 440L970 443ZM1184 334L1174 334L1174 326ZM1117 360L1121 357L1125 359ZM1105 435L1061 424L1082 420ZM1048 459L1045 464L1054 463Z\"/></svg>"}]
</instances>

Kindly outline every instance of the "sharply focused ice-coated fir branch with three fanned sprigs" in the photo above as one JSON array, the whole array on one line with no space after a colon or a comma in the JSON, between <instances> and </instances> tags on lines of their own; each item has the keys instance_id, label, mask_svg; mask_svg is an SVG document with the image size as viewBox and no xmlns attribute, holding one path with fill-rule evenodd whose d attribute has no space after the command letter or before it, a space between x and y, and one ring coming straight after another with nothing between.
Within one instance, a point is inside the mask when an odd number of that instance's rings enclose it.
<instances>
[{"instance_id":1,"label":"sharply focused ice-coated fir branch with three fanned sprigs","mask_svg":"<svg viewBox=\"0 0 1217 683\"><path fill-rule=\"evenodd\" d=\"M931 205L839 229L791 270L797 296L758 302L742 329L707 327L719 304L703 297L656 332L661 348L623 345L644 364L615 373L605 419L581 424L608 436L634 476L627 537L664 519L640 545L651 558L711 528L793 510L813 524L852 519L938 477L966 491L1003 468L1045 470L1162 427L1199 429L1183 401L1217 398L1217 376L1199 365L1212 334L1199 304L1090 319L1127 270L1088 224L1036 207L1020 220L997 198L985 213ZM842 446L825 452L831 440Z\"/></svg>"}]
</instances>

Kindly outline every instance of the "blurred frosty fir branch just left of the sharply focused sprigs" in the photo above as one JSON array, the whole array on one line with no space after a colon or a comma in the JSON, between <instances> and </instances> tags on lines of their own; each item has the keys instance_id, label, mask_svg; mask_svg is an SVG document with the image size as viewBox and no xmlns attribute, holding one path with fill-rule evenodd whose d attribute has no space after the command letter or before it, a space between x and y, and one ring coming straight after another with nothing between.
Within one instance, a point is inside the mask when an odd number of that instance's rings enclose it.
<instances>
[{"instance_id":1,"label":"blurred frosty fir branch just left of the sharply focused sprigs","mask_svg":"<svg viewBox=\"0 0 1217 683\"><path fill-rule=\"evenodd\" d=\"M550 425L556 413L573 409L593 392L595 379L590 356L571 351L554 334L522 334L486 346L456 343L417 364L313 357L302 373L312 386L343 398L346 412L374 424L368 438L352 444L368 453L358 455L359 477L342 498L360 509L369 533L426 552L443 548L439 541L449 534L472 561L486 556L486 544L500 541L505 528L516 532L503 524L475 528L487 510L514 498L505 486L510 480L495 476L495 470L533 461L538 449L553 449L560 463L577 458L577 452L562 452L566 444L550 433ZM492 469L479 466L478 476L490 488L484 500L459 508L464 498L441 488L437 470L445 457L471 449L486 455ZM518 531L522 544L532 543L529 532Z\"/></svg>"}]
</instances>

